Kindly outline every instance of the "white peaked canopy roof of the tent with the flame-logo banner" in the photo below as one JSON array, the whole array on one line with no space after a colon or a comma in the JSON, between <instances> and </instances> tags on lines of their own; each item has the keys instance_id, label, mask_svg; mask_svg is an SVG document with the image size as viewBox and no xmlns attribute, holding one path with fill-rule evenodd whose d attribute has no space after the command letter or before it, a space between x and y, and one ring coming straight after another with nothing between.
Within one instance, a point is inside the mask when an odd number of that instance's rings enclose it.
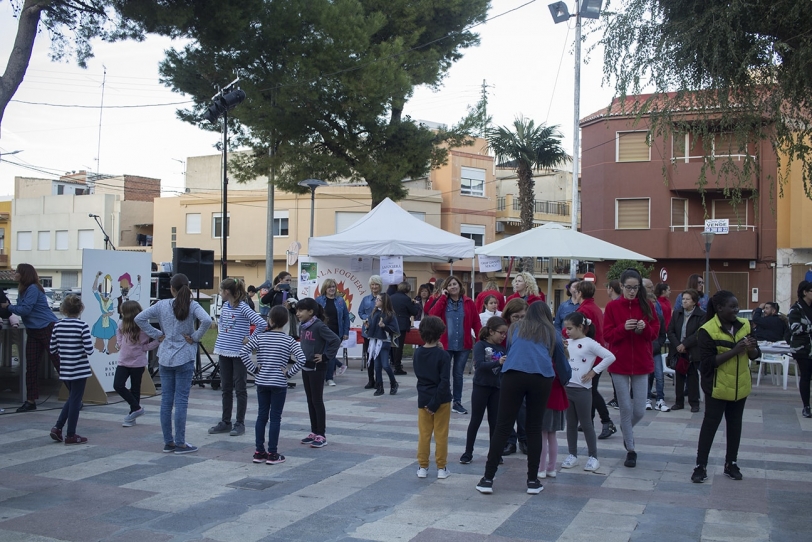
<instances>
[{"instance_id":1,"label":"white peaked canopy roof of the tent with the flame-logo banner","mask_svg":"<svg viewBox=\"0 0 812 542\"><path fill-rule=\"evenodd\" d=\"M313 237L308 246L311 257L403 256L442 262L474 257L473 240L435 228L389 198L343 232Z\"/></svg>"}]
</instances>

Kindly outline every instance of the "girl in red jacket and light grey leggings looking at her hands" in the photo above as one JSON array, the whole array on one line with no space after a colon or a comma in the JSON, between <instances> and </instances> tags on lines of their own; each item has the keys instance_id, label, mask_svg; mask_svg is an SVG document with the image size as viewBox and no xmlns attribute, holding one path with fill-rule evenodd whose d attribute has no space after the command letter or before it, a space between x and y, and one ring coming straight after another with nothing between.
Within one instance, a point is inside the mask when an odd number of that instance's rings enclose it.
<instances>
[{"instance_id":1,"label":"girl in red jacket and light grey leggings looking at her hands","mask_svg":"<svg viewBox=\"0 0 812 542\"><path fill-rule=\"evenodd\" d=\"M651 343L660 331L660 321L640 273L627 269L620 275L620 284L623 295L606 305L603 338L617 358L607 370L620 406L620 430L627 452L623 464L631 468L637 465L633 427L646 412L648 375L654 372Z\"/></svg>"}]
</instances>

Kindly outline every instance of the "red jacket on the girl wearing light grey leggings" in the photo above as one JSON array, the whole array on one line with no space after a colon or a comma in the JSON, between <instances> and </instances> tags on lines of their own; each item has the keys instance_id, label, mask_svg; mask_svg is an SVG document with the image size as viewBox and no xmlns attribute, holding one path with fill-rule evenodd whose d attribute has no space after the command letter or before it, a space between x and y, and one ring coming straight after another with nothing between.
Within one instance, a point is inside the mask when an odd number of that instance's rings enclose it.
<instances>
[{"instance_id":1,"label":"red jacket on the girl wearing light grey leggings","mask_svg":"<svg viewBox=\"0 0 812 542\"><path fill-rule=\"evenodd\" d=\"M637 299L619 297L606 305L603 315L603 339L617 358L609 366L610 373L622 375L647 375L654 372L654 356L651 343L660 331L660 320L649 302L652 316L646 317ZM646 327L641 333L626 330L626 320L644 320Z\"/></svg>"}]
</instances>

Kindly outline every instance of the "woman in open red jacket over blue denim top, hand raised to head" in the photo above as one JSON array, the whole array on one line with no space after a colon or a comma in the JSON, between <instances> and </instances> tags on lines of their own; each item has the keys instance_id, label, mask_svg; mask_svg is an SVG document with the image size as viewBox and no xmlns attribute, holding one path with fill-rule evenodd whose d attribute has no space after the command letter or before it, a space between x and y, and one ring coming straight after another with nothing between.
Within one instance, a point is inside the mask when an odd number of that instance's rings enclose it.
<instances>
[{"instance_id":1,"label":"woman in open red jacket over blue denim top, hand raised to head","mask_svg":"<svg viewBox=\"0 0 812 542\"><path fill-rule=\"evenodd\" d=\"M462 281L451 275L446 279L442 295L432 305L430 314L439 317L446 326L440 342L452 360L454 403L451 410L457 414L468 414L462 406L462 375L474 347L474 337L479 335L479 328L482 327L479 311L474 300L465 295Z\"/></svg>"}]
</instances>

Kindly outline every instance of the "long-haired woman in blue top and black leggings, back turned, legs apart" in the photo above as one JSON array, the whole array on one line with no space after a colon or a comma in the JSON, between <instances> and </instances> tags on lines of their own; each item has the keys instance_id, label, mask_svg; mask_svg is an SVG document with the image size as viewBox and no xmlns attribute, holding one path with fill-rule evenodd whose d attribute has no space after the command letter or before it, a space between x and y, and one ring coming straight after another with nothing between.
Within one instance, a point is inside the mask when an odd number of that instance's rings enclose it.
<instances>
[{"instance_id":1,"label":"long-haired woman in blue top and black leggings, back turned, legs apart","mask_svg":"<svg viewBox=\"0 0 812 542\"><path fill-rule=\"evenodd\" d=\"M538 479L541 423L556 375L555 359L559 364L569 366L561 335L553 326L550 307L546 303L533 303L524 319L508 331L496 430L488 450L485 475L476 486L480 493L493 493L493 478L522 401L527 402L527 493L535 495L543 489ZM566 381L570 378L570 375L561 376Z\"/></svg>"}]
</instances>

